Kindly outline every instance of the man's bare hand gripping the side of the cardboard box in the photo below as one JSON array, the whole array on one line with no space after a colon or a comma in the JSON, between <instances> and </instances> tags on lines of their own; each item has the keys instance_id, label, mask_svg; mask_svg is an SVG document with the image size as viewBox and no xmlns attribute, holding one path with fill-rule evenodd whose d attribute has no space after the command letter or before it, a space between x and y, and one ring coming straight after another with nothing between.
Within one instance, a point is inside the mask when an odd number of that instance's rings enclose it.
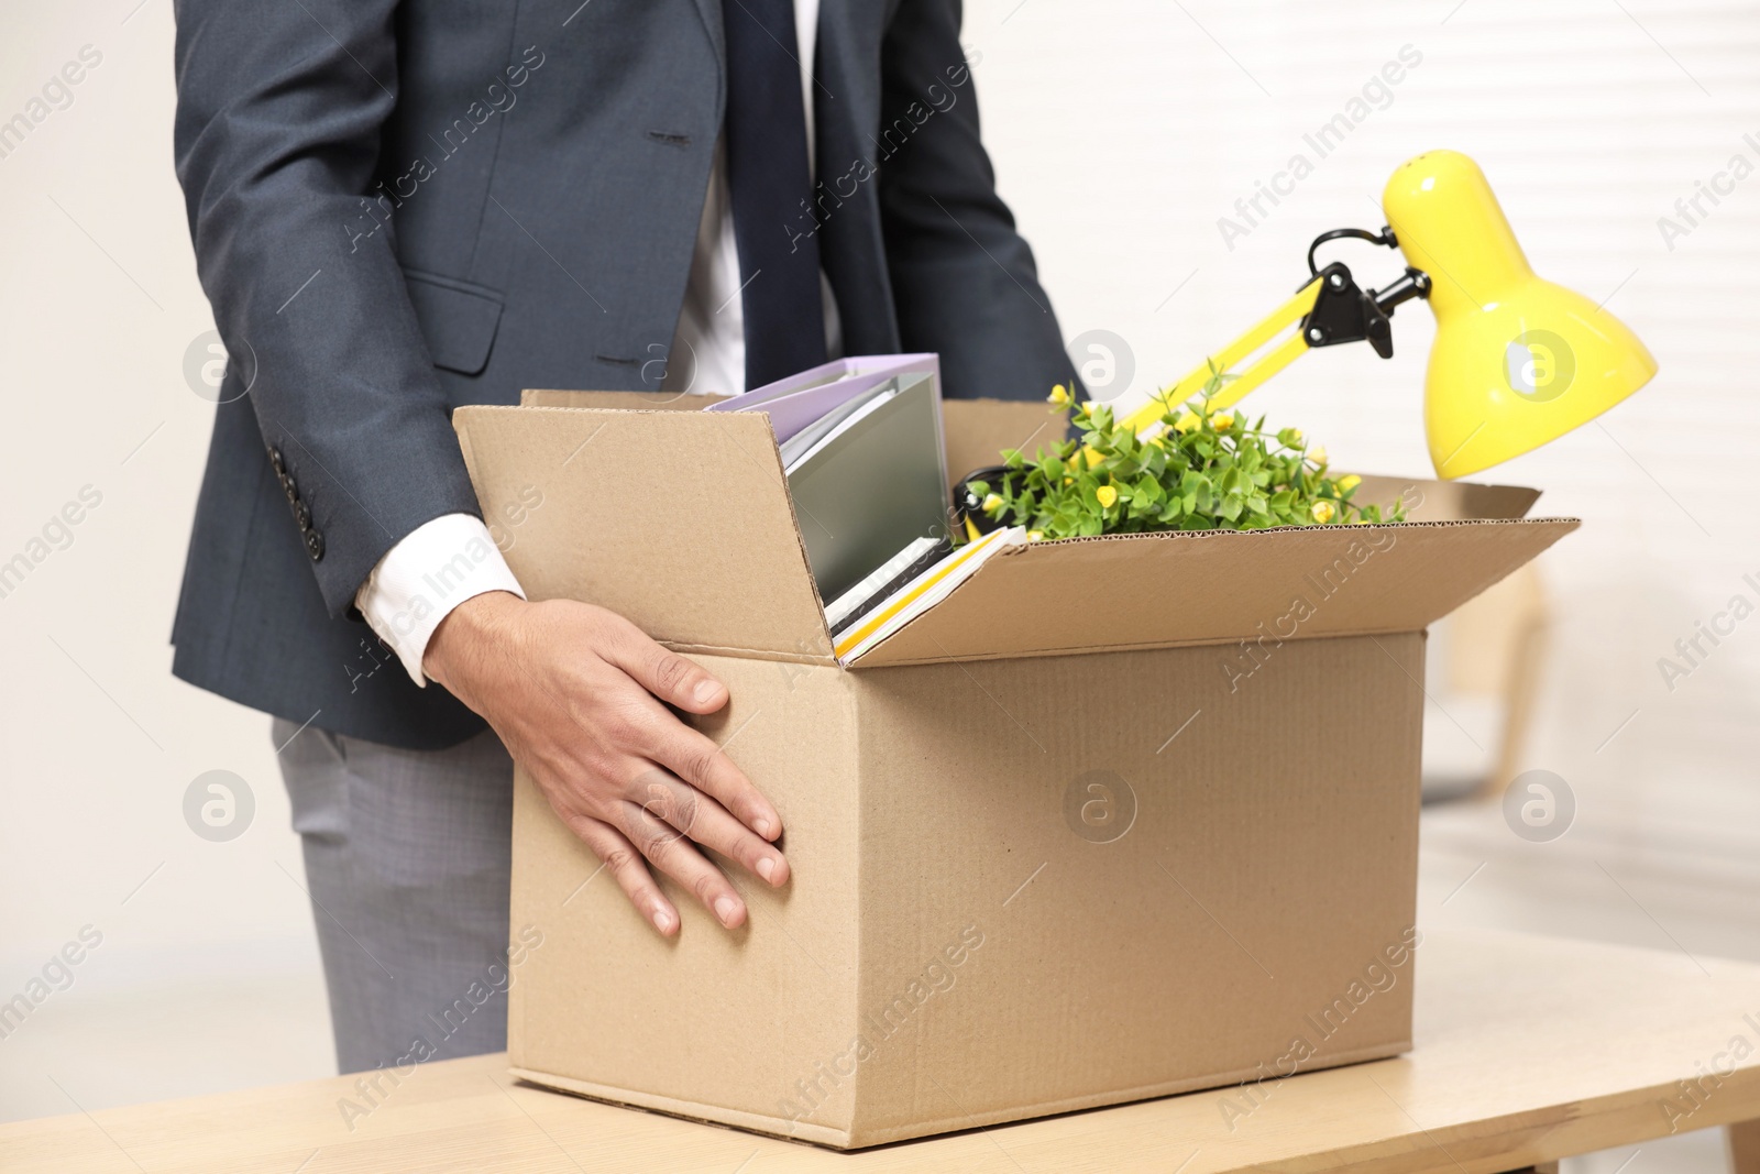
<instances>
[{"instance_id":1,"label":"man's bare hand gripping the side of the cardboard box","mask_svg":"<svg viewBox=\"0 0 1760 1174\"><path fill-rule=\"evenodd\" d=\"M556 817L660 933L678 931L678 910L644 857L729 929L744 922L746 905L692 841L771 885L788 880L788 862L769 843L781 834L776 808L665 708L715 713L727 686L623 616L488 591L440 621L422 667L489 720Z\"/></svg>"}]
</instances>

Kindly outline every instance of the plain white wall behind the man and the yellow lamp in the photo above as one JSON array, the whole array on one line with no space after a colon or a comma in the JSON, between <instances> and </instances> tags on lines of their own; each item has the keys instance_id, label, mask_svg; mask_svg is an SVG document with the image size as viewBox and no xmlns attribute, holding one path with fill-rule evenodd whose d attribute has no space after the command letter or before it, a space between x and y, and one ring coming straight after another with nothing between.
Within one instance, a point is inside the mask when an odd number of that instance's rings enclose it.
<instances>
[{"instance_id":1,"label":"plain white wall behind the man and the yellow lamp","mask_svg":"<svg viewBox=\"0 0 1760 1174\"><path fill-rule=\"evenodd\" d=\"M1746 852L1742 829L1760 824L1760 618L1672 693L1656 658L1732 593L1760 602L1741 581L1760 577L1760 176L1672 250L1656 218L1730 155L1760 164L1742 139L1760 141L1760 9L973 0L964 39L982 53L975 76L1003 194L1065 334L1123 336L1132 394L1184 373L1292 292L1316 232L1380 227L1396 164L1433 146L1478 158L1536 269L1609 297L1661 361L1605 426L1496 470L1544 486L1545 510L1586 519L1545 558L1559 655L1533 764L1579 789L1582 834L1616 864L1656 838L1677 852ZM72 104L0 158L12 414L0 429L0 560L81 486L104 495L72 546L0 598L0 998L81 926L104 945L72 989L0 1040L0 1118L69 1111L46 1075L90 1107L130 1095L113 1075L130 1063L158 1067L153 1095L329 1063L266 720L167 672L211 419L183 373L211 319L171 171L169 2L0 9L0 118L88 44L102 63ZM1230 250L1218 218L1408 44L1422 62L1392 102ZM1397 271L1366 246L1336 255L1368 283ZM1429 312L1406 306L1394 327L1394 361L1368 347L1313 354L1248 405L1301 424L1339 465L1424 473ZM215 767L257 799L253 825L231 843L199 840L181 815L185 787ZM190 1021L192 1003L215 1009L206 1026ZM178 1007L181 1019L160 1019Z\"/></svg>"}]
</instances>

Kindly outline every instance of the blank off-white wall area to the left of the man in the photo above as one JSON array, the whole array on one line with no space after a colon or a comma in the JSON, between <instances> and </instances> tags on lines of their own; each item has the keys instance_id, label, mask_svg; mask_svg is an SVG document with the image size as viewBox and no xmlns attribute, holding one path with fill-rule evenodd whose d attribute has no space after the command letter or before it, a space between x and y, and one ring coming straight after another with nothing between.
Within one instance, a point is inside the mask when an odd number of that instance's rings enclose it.
<instances>
[{"instance_id":1,"label":"blank off-white wall area to the left of the man","mask_svg":"<svg viewBox=\"0 0 1760 1174\"><path fill-rule=\"evenodd\" d=\"M84 46L102 55L0 158L0 561L83 486L102 495L0 598L0 1000L83 926L102 933L0 1040L0 1118L72 1112L49 1077L90 1107L141 1074L172 1095L331 1063L268 718L169 672L213 419L183 354L213 320L171 165L171 5L134 5L0 9L0 120ZM183 822L209 769L257 801L231 843ZM164 1023L180 1010L208 1024Z\"/></svg>"}]
</instances>

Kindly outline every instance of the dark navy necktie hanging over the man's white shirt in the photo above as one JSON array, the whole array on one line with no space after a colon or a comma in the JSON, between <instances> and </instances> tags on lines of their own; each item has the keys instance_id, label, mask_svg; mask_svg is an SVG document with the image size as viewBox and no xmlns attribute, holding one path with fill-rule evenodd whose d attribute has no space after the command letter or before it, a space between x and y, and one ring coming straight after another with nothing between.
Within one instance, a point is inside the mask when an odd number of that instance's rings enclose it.
<instances>
[{"instance_id":1,"label":"dark navy necktie hanging over the man's white shirt","mask_svg":"<svg viewBox=\"0 0 1760 1174\"><path fill-rule=\"evenodd\" d=\"M746 387L825 361L818 238L803 201L806 113L796 58L794 0L722 0L727 32L727 188L739 246L746 322Z\"/></svg>"}]
</instances>

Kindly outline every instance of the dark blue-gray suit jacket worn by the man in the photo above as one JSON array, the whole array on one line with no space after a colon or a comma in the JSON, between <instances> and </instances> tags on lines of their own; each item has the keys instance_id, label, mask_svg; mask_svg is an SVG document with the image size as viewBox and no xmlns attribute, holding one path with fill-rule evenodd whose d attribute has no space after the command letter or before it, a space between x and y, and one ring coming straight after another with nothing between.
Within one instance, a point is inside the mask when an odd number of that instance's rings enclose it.
<instances>
[{"instance_id":1,"label":"dark blue-gray suit jacket worn by the man","mask_svg":"<svg viewBox=\"0 0 1760 1174\"><path fill-rule=\"evenodd\" d=\"M178 178L232 361L172 671L452 745L482 722L415 688L354 593L415 526L477 512L451 408L658 387L722 121L722 0L176 9ZM848 354L938 350L949 396L1044 396L1068 361L957 37L957 0L824 0L817 218L778 231L817 231Z\"/></svg>"}]
</instances>

